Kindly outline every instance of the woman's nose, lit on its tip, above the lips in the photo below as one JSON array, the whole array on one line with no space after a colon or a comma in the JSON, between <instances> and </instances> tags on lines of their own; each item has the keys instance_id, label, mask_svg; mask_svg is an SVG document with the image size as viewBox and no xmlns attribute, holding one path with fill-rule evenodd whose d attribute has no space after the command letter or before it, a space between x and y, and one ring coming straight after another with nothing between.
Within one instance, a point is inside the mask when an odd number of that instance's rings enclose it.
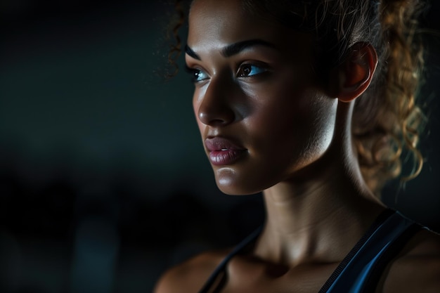
<instances>
[{"instance_id":1,"label":"woman's nose, lit on its tip, above the lips","mask_svg":"<svg viewBox=\"0 0 440 293\"><path fill-rule=\"evenodd\" d=\"M225 126L235 121L231 84L220 79L212 78L205 93L195 103L198 104L198 119L203 124Z\"/></svg>"}]
</instances>

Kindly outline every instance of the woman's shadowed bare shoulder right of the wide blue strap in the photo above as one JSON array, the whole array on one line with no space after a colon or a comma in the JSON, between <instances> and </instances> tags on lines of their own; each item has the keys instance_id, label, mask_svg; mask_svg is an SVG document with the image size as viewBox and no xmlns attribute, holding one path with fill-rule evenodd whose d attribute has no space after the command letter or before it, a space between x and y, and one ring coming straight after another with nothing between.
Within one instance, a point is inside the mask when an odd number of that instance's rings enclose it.
<instances>
[{"instance_id":1,"label":"woman's shadowed bare shoulder right of the wide blue strap","mask_svg":"<svg viewBox=\"0 0 440 293\"><path fill-rule=\"evenodd\" d=\"M440 235L417 233L390 264L380 292L440 292Z\"/></svg>"}]
</instances>

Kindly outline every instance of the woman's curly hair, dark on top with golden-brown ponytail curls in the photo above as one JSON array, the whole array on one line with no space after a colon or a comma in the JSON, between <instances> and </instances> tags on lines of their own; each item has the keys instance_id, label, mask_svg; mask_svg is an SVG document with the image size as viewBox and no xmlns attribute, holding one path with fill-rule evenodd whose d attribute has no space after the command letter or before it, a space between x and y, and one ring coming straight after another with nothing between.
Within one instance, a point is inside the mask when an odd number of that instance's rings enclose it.
<instances>
[{"instance_id":1,"label":"woman's curly hair, dark on top with golden-brown ponytail curls","mask_svg":"<svg viewBox=\"0 0 440 293\"><path fill-rule=\"evenodd\" d=\"M176 64L181 50L179 28L185 22L182 2L176 0L179 20L173 33L176 44L169 62ZM421 0L242 0L246 11L275 20L315 39L314 70L328 78L353 44L372 44L379 65L370 87L356 99L352 136L365 183L375 195L387 181L401 176L403 155L412 155L414 167L408 181L420 174L423 157L418 150L422 110L416 104L423 49L418 34ZM172 58L173 57L173 58Z\"/></svg>"}]
</instances>

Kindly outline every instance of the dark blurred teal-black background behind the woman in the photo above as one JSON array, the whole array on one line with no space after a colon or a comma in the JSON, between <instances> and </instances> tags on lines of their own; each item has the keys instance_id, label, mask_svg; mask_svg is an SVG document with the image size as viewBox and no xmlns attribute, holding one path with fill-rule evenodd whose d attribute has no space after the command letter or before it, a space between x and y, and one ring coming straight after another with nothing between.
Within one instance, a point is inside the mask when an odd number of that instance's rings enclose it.
<instances>
[{"instance_id":1,"label":"dark blurred teal-black background behind the woman","mask_svg":"<svg viewBox=\"0 0 440 293\"><path fill-rule=\"evenodd\" d=\"M440 29L439 1L423 25ZM0 1L0 292L151 292L160 273L259 226L216 189L193 85L164 82L172 6ZM427 35L422 174L384 201L440 230L440 37Z\"/></svg>"}]
</instances>

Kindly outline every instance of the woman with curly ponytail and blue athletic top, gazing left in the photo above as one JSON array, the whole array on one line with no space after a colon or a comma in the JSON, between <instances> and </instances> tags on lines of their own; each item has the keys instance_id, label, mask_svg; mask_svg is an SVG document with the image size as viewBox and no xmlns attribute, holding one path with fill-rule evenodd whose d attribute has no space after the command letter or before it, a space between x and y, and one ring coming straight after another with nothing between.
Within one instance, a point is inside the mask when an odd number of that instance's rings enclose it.
<instances>
[{"instance_id":1,"label":"woman with curly ponytail and blue athletic top, gazing left","mask_svg":"<svg viewBox=\"0 0 440 293\"><path fill-rule=\"evenodd\" d=\"M262 191L266 221L155 292L440 292L439 235L377 197L400 141L421 167L416 2L192 2L185 59L207 157L224 193Z\"/></svg>"}]
</instances>

